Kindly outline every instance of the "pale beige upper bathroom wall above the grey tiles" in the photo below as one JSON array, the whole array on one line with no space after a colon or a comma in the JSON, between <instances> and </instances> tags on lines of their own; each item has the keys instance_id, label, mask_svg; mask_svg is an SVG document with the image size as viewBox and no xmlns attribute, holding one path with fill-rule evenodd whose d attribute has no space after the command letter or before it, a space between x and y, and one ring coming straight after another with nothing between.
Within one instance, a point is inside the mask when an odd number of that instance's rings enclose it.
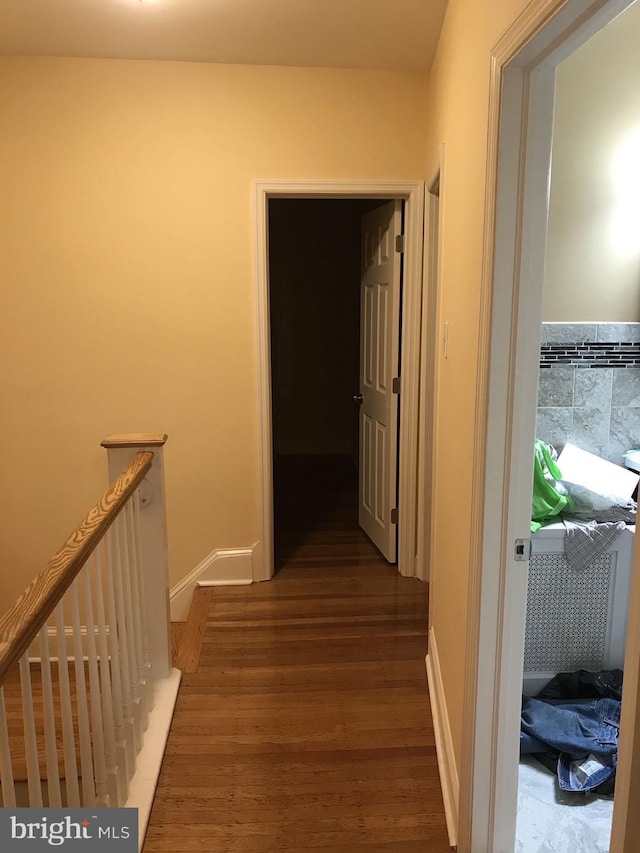
<instances>
[{"instance_id":1,"label":"pale beige upper bathroom wall above the grey tiles","mask_svg":"<svg viewBox=\"0 0 640 853\"><path fill-rule=\"evenodd\" d=\"M639 44L636 3L558 69L545 320L640 320Z\"/></svg>"}]
</instances>

